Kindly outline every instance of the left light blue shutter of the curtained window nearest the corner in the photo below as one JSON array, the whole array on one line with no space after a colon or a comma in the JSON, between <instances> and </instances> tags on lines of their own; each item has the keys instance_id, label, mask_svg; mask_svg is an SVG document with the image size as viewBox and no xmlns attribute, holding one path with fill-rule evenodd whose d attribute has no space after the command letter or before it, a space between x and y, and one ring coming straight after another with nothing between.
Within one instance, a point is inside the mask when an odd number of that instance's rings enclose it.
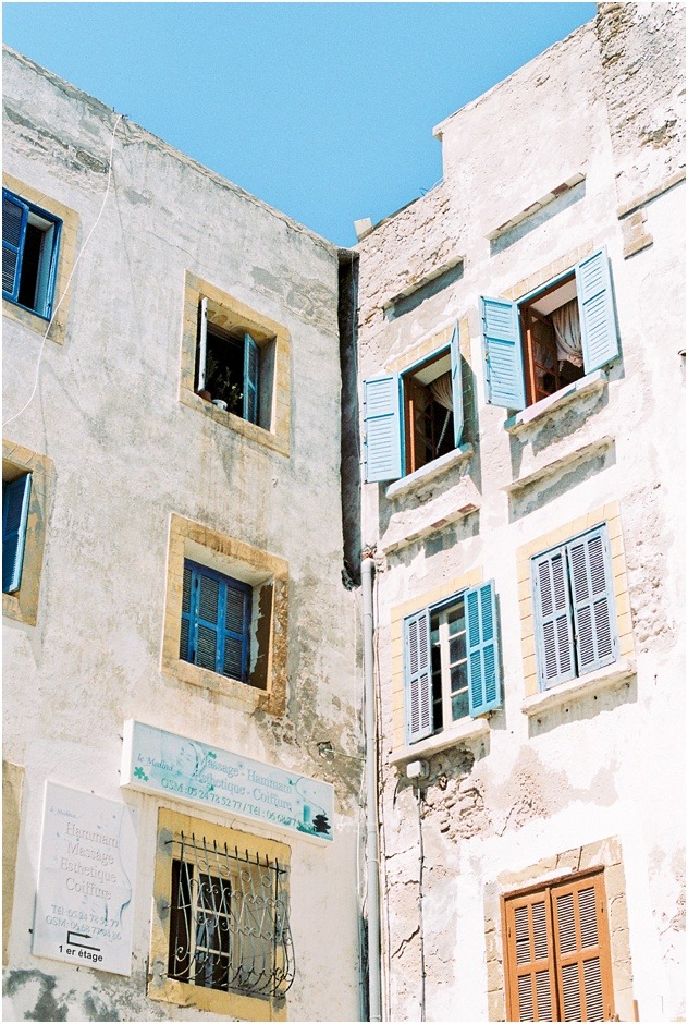
<instances>
[{"instance_id":1,"label":"left light blue shutter of the curtained window nearest the corner","mask_svg":"<svg viewBox=\"0 0 688 1024\"><path fill-rule=\"evenodd\" d=\"M366 481L402 475L402 415L397 374L364 380Z\"/></svg>"}]
</instances>

